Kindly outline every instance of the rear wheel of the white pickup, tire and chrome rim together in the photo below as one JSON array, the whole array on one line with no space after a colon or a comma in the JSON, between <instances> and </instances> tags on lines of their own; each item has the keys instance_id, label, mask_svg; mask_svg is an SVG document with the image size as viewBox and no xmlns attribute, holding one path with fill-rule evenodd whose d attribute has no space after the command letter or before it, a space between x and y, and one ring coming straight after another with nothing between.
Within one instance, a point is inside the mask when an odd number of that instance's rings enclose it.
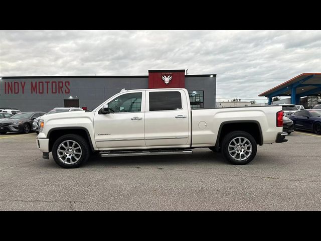
<instances>
[{"instance_id":1,"label":"rear wheel of the white pickup, tire and chrome rim together","mask_svg":"<svg viewBox=\"0 0 321 241\"><path fill-rule=\"evenodd\" d=\"M255 139L247 132L230 132L223 139L222 154L234 165L245 165L255 157L256 145Z\"/></svg>"}]
</instances>

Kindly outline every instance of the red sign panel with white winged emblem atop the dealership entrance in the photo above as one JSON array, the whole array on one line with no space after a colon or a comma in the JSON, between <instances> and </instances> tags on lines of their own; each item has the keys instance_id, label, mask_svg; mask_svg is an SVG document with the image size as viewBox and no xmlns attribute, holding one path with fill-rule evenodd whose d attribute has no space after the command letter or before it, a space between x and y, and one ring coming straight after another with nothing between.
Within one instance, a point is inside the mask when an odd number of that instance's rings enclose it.
<instances>
[{"instance_id":1,"label":"red sign panel with white winged emblem atop the dealership entrance","mask_svg":"<svg viewBox=\"0 0 321 241\"><path fill-rule=\"evenodd\" d=\"M149 70L148 88L185 88L185 70Z\"/></svg>"}]
</instances>

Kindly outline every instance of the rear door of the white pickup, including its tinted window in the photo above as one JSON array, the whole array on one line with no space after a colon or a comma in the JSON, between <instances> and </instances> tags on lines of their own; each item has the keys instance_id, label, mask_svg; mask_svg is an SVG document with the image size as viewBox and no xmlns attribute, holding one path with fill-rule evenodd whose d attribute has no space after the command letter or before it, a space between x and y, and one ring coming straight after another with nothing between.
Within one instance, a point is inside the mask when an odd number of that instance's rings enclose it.
<instances>
[{"instance_id":1,"label":"rear door of the white pickup, including its tinted window","mask_svg":"<svg viewBox=\"0 0 321 241\"><path fill-rule=\"evenodd\" d=\"M188 141L189 108L186 93L176 89L146 91L146 146L186 147Z\"/></svg>"}]
</instances>

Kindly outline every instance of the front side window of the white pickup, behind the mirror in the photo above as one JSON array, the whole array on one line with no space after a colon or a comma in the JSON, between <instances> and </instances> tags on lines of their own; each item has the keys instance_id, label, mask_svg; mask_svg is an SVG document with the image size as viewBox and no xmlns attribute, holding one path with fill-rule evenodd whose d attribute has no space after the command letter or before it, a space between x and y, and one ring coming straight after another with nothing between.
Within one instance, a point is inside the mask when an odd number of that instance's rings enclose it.
<instances>
[{"instance_id":1,"label":"front side window of the white pickup, behind the mirror","mask_svg":"<svg viewBox=\"0 0 321 241\"><path fill-rule=\"evenodd\" d=\"M141 93L128 93L114 98L108 103L110 112L140 112Z\"/></svg>"}]
</instances>

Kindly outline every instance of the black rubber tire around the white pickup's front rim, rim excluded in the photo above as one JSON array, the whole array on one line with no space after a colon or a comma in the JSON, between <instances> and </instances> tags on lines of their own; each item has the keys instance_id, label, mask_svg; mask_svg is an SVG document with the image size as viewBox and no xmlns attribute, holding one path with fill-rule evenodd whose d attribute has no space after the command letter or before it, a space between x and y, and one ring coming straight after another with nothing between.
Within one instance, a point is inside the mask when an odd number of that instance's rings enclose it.
<instances>
[{"instance_id":1,"label":"black rubber tire around the white pickup's front rim, rim excluded","mask_svg":"<svg viewBox=\"0 0 321 241\"><path fill-rule=\"evenodd\" d=\"M68 162L64 163L63 161L61 161L59 159L58 154L57 154L57 150L58 150L59 145L67 140L74 141L77 144L79 144L79 146L81 147L80 159L72 164L70 164ZM77 168L77 167L83 165L85 162L87 162L90 154L91 154L91 150L88 146L88 142L83 137L78 136L78 135L74 135L74 134L68 134L68 135L64 135L64 136L58 138L52 147L52 156L53 156L55 162L63 168Z\"/></svg>"}]
</instances>

